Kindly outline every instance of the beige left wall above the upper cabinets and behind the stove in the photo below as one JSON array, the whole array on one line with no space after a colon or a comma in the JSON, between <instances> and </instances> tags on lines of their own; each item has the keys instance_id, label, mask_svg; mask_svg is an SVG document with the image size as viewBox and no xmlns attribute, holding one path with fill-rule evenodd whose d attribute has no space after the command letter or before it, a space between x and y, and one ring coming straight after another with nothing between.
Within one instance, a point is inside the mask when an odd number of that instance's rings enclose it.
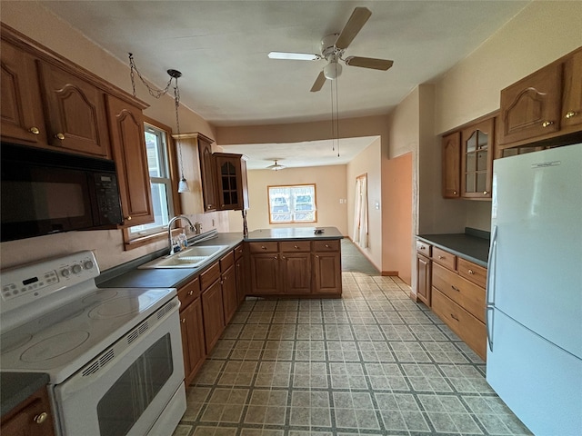
<instances>
[{"instance_id":1,"label":"beige left wall above the upper cabinets and behind the stove","mask_svg":"<svg viewBox=\"0 0 582 436\"><path fill-rule=\"evenodd\" d=\"M65 56L75 64L103 77L111 84L132 93L129 65L125 60L122 62L106 53L75 28L47 12L42 5L36 2L3 0L0 12L0 18L6 25L10 25L22 34ZM75 44L71 44L72 41ZM136 59L136 62L139 64L139 59ZM147 93L143 84L138 84L136 91L138 98L150 104L150 107L144 112L147 116L166 125L174 126L176 124L172 97L165 96L156 100ZM183 132L201 132L209 137L214 137L211 125L186 107L180 109L180 127ZM192 215L192 217L203 223L205 230L211 230L214 227L220 232L228 232L226 213L206 213ZM125 252L121 230L53 234L1 243L0 267L7 268L17 264L35 262L49 256L75 253L80 250L94 250L100 268L105 270L116 264L125 263L146 253L164 248L166 245L166 241L162 241Z\"/></svg>"}]
</instances>

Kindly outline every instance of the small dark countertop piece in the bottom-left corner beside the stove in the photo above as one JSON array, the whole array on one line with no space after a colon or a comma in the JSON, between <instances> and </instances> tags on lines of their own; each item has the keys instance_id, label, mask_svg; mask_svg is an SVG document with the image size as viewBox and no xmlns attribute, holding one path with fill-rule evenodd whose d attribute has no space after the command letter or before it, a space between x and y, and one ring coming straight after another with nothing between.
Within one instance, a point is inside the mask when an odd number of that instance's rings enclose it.
<instances>
[{"instance_id":1,"label":"small dark countertop piece in the bottom-left corner beside the stove","mask_svg":"<svg viewBox=\"0 0 582 436\"><path fill-rule=\"evenodd\" d=\"M0 413L4 416L49 381L44 372L0 372Z\"/></svg>"}]
</instances>

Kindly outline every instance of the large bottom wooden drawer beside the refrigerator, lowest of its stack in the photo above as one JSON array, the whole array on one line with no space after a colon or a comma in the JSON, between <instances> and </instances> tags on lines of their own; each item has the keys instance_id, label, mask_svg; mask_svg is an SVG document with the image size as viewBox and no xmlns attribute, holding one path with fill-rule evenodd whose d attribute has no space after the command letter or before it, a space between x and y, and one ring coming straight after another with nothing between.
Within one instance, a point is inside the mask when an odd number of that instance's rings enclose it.
<instances>
[{"instance_id":1,"label":"large bottom wooden drawer beside the refrigerator, lowest of its stack","mask_svg":"<svg viewBox=\"0 0 582 436\"><path fill-rule=\"evenodd\" d=\"M481 359L487 358L487 332L483 322L477 320L434 286L432 289L432 309L453 332L457 333L459 338L467 342L467 345L474 352L477 352Z\"/></svg>"}]
</instances>

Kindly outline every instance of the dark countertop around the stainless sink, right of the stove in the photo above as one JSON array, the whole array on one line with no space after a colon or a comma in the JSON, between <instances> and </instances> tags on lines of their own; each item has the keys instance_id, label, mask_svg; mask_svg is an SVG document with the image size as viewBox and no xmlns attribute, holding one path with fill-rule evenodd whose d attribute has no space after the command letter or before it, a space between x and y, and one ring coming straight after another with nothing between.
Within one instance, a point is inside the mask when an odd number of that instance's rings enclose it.
<instances>
[{"instance_id":1,"label":"dark countertop around the stainless sink, right of the stove","mask_svg":"<svg viewBox=\"0 0 582 436\"><path fill-rule=\"evenodd\" d=\"M158 268L158 269L137 269L139 263L127 263L115 267L114 273L107 270L102 273L103 280L96 280L100 288L179 288L191 281L206 270L206 267L215 263L226 252L232 250L243 241L243 233L218 233L213 239L196 243L196 246L205 245L226 245L227 247L214 256L209 257L205 263L196 268ZM149 262L146 259L142 263Z\"/></svg>"}]
</instances>

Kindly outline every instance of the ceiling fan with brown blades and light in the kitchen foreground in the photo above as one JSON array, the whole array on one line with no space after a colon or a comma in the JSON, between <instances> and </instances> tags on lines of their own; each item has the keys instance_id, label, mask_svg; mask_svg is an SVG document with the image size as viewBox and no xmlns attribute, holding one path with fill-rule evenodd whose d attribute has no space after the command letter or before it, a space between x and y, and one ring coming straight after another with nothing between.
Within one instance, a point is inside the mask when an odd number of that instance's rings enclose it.
<instances>
[{"instance_id":1,"label":"ceiling fan with brown blades and light in the kitchen foreground","mask_svg":"<svg viewBox=\"0 0 582 436\"><path fill-rule=\"evenodd\" d=\"M342 65L338 61L343 61L349 66L360 66L362 68L386 71L394 64L393 61L373 57L343 57L347 46L351 44L366 24L370 15L372 15L372 12L368 8L356 7L340 34L327 35L322 39L321 54L271 52L268 56L271 59L290 59L297 61L318 61L320 59L326 59L326 66L319 73L316 82L311 87L312 93L319 91L326 83L326 79L334 80L339 77L342 72Z\"/></svg>"}]
</instances>

